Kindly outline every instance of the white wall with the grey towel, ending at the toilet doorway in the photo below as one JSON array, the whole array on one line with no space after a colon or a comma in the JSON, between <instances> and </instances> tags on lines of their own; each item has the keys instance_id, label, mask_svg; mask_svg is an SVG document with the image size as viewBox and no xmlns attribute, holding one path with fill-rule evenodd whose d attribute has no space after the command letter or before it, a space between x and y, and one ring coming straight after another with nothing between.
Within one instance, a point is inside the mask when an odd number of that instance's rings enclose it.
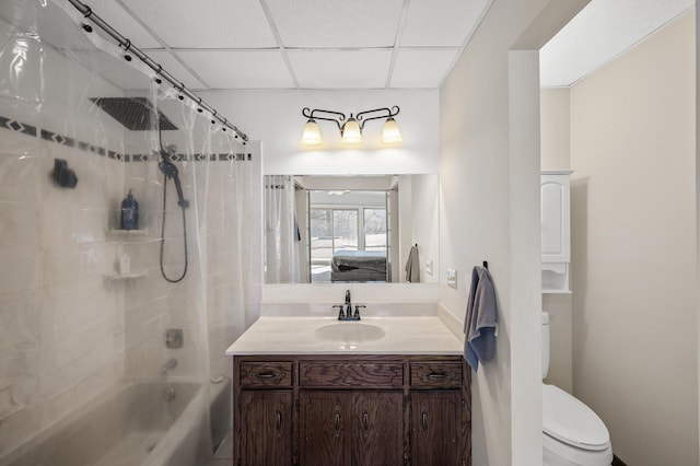
<instances>
[{"instance_id":1,"label":"white wall with the grey towel, ending at the toilet doorway","mask_svg":"<svg viewBox=\"0 0 700 466\"><path fill-rule=\"evenodd\" d=\"M495 0L441 90L440 254L460 278L440 298L463 318L487 259L499 301L497 357L472 373L476 465L541 462L538 63L510 50L538 49L583 4Z\"/></svg>"}]
</instances>

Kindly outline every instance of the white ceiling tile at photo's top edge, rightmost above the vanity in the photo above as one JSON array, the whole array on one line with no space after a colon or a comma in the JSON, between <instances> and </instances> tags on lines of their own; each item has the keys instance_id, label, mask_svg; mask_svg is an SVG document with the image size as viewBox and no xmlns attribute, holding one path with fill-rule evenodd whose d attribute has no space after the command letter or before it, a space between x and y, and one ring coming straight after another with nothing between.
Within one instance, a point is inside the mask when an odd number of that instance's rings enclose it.
<instances>
[{"instance_id":1,"label":"white ceiling tile at photo's top edge, rightmost above the vanity","mask_svg":"<svg viewBox=\"0 0 700 466\"><path fill-rule=\"evenodd\" d=\"M411 0L404 25L402 47L462 47L491 0Z\"/></svg>"}]
</instances>

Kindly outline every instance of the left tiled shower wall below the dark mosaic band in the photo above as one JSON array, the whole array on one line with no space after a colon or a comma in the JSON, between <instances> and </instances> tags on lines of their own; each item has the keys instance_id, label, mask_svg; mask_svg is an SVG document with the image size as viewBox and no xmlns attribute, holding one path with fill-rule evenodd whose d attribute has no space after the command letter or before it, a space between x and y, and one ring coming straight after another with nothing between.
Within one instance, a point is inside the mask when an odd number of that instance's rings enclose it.
<instances>
[{"instance_id":1,"label":"left tiled shower wall below the dark mosaic band","mask_svg":"<svg viewBox=\"0 0 700 466\"><path fill-rule=\"evenodd\" d=\"M124 164L0 131L1 455L119 381L125 336L104 279ZM55 156L80 167L79 188L50 180Z\"/></svg>"}]
</instances>

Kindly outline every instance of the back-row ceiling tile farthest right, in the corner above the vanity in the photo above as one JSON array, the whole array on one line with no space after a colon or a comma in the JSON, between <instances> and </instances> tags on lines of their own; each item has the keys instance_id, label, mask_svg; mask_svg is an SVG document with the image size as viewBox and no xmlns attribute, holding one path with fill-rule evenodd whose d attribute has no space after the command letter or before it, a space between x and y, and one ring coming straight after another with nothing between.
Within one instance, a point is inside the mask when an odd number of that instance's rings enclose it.
<instances>
[{"instance_id":1,"label":"back-row ceiling tile farthest right, in the corner above the vanity","mask_svg":"<svg viewBox=\"0 0 700 466\"><path fill-rule=\"evenodd\" d=\"M394 63L392 88L439 88L458 53L458 48L399 49Z\"/></svg>"}]
</instances>

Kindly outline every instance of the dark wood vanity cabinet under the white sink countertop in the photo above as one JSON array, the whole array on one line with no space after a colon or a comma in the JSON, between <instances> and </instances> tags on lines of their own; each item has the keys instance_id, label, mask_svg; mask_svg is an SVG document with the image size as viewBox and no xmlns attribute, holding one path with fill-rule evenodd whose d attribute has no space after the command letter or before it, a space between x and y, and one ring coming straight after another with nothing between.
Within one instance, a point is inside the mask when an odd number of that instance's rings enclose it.
<instances>
[{"instance_id":1,"label":"dark wood vanity cabinet under the white sink countertop","mask_svg":"<svg viewBox=\"0 0 700 466\"><path fill-rule=\"evenodd\" d=\"M234 465L470 465L469 374L456 356L234 357Z\"/></svg>"}]
</instances>

